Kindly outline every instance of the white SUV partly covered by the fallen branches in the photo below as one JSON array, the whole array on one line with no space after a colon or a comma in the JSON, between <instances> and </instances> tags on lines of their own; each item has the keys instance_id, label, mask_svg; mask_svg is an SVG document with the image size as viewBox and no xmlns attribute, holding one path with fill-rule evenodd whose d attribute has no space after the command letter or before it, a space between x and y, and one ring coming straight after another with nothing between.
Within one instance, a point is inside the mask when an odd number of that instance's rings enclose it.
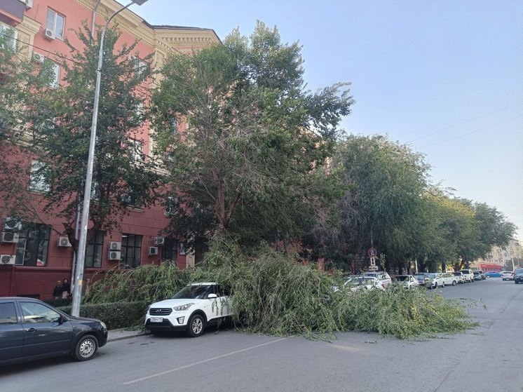
<instances>
[{"instance_id":1,"label":"white SUV partly covered by the fallen branches","mask_svg":"<svg viewBox=\"0 0 523 392\"><path fill-rule=\"evenodd\" d=\"M231 316L231 297L222 285L193 283L170 299L151 304L145 315L145 328L153 334L185 330L190 337L198 337L207 325Z\"/></svg>"}]
</instances>

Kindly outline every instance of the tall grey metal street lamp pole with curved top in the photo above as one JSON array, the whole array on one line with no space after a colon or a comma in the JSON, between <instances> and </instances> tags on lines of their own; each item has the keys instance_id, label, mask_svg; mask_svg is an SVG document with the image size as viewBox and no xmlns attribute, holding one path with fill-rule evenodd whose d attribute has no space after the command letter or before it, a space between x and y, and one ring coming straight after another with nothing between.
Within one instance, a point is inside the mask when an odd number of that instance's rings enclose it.
<instances>
[{"instance_id":1,"label":"tall grey metal street lamp pole with curved top","mask_svg":"<svg viewBox=\"0 0 523 392\"><path fill-rule=\"evenodd\" d=\"M98 121L98 105L100 103L100 83L102 79L102 62L104 56L104 37L107 27L111 20L121 13L126 8L129 8L133 4L141 6L147 0L133 0L127 6L120 8L118 11L113 13L107 22L105 22L104 29L102 30L102 36L100 37L100 51L98 52L98 67L96 70L96 86L95 86L95 102L93 104L93 122L91 123L91 132L89 140L89 154L87 159L87 173L86 173L86 184L83 189L83 208L81 218L81 230L80 240L78 245L78 254L76 258L76 272L74 277L74 290L73 290L73 303L71 309L72 316L80 316L80 304L82 297L82 286L83 286L83 269L86 264L86 245L87 245L87 229L89 224L89 205L90 205L90 194L91 184L93 182L93 166L95 161L95 144L96 144L96 126Z\"/></svg>"}]
</instances>

